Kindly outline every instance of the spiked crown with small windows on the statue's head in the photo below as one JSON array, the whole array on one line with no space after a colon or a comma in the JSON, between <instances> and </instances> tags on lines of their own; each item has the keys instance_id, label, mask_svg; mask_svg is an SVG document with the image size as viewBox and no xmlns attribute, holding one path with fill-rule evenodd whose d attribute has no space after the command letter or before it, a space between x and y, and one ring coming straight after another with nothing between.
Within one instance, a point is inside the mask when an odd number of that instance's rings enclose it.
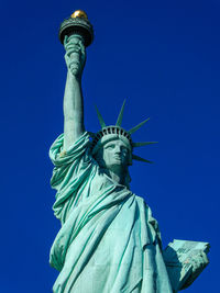
<instances>
[{"instance_id":1,"label":"spiked crown with small windows on the statue's head","mask_svg":"<svg viewBox=\"0 0 220 293\"><path fill-rule=\"evenodd\" d=\"M139 128L141 128L141 126L143 126L150 119L144 120L143 122L141 122L136 126L132 127L130 131L125 131L124 128L121 127L121 123L122 123L122 119L123 119L123 112L124 112L124 105L125 105L125 100L122 104L122 108L121 108L121 111L119 113L116 125L110 125L110 126L106 125L101 113L99 112L98 108L96 106L96 111L97 111L99 123L101 125L101 129L96 134L89 133L90 136L92 137L92 142L91 142L91 146L90 146L91 153L95 155L98 151L98 149L100 148L100 145L106 144L108 140L112 140L112 139L118 138L118 139L123 140L123 143L128 146L128 148L130 149L130 151L132 154L133 160L139 160L139 161L152 164L153 161L146 160L144 158L141 158L141 157L134 155L133 148L156 144L157 142L134 143L132 140L132 137L131 137L131 135L133 133L135 133Z\"/></svg>"}]
</instances>

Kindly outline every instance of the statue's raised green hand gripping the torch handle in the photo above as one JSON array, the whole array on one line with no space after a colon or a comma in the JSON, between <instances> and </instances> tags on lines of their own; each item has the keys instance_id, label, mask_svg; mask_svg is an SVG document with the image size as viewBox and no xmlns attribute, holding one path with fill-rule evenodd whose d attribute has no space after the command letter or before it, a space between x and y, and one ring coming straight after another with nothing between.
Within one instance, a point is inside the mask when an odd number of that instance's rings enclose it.
<instances>
[{"instance_id":1,"label":"statue's raised green hand gripping the torch handle","mask_svg":"<svg viewBox=\"0 0 220 293\"><path fill-rule=\"evenodd\" d=\"M86 49L81 37L78 35L65 36L64 47L68 70L73 76L80 78L86 63Z\"/></svg>"}]
</instances>

